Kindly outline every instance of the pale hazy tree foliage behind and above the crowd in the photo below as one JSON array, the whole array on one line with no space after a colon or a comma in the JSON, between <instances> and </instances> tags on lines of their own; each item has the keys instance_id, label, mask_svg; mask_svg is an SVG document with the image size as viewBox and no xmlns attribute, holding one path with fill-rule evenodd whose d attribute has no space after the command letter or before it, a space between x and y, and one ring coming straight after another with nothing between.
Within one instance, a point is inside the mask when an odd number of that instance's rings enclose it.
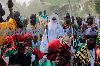
<instances>
[{"instance_id":1,"label":"pale hazy tree foliage behind and above the crowd","mask_svg":"<svg viewBox=\"0 0 100 66\"><path fill-rule=\"evenodd\" d=\"M7 0L1 0L5 4L6 15L9 13L6 7ZM42 3L44 2L44 3ZM26 6L14 2L14 10L19 11L23 16L30 16L32 13L47 10L49 14L57 10L60 15L70 12L74 16L84 17L86 14L100 13L100 0L31 0L30 5ZM70 7L71 6L71 7Z\"/></svg>"}]
</instances>

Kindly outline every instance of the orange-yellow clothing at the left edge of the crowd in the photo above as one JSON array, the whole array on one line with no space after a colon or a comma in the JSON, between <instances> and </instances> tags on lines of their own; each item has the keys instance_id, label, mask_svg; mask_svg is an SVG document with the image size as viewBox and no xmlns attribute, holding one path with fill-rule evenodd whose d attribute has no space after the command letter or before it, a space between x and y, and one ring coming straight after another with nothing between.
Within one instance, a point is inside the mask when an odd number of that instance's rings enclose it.
<instances>
[{"instance_id":1,"label":"orange-yellow clothing at the left edge of the crowd","mask_svg":"<svg viewBox=\"0 0 100 66\"><path fill-rule=\"evenodd\" d=\"M16 21L12 18L9 19L8 22L0 23L0 45L3 44L4 38L6 35L6 30L15 30L16 29Z\"/></svg>"}]
</instances>

